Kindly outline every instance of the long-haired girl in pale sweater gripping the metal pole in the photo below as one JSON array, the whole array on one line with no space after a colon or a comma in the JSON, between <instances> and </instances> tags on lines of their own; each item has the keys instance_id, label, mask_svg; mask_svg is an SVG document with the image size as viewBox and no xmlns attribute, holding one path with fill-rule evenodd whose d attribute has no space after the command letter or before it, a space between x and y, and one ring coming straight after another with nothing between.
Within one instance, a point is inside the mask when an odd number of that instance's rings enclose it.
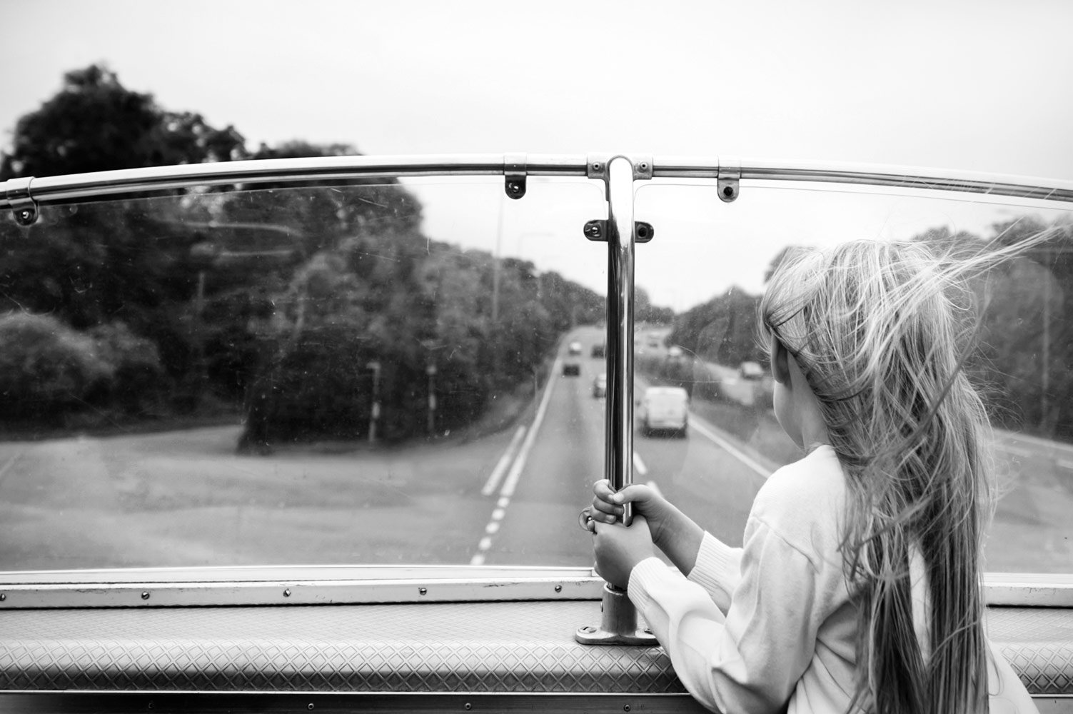
<instances>
[{"instance_id":1,"label":"long-haired girl in pale sweater gripping the metal pole","mask_svg":"<svg viewBox=\"0 0 1073 714\"><path fill-rule=\"evenodd\" d=\"M744 548L645 485L597 482L597 569L709 709L1035 711L983 631L993 490L957 275L922 244L881 242L777 271L762 333L776 417L805 456L756 494Z\"/></svg>"}]
</instances>

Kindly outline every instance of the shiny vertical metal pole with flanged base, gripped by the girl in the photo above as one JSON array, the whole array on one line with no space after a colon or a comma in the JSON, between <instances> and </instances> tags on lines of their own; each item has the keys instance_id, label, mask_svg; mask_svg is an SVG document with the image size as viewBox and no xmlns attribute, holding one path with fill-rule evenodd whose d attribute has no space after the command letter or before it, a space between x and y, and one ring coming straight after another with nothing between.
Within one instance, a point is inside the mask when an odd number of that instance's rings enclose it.
<instances>
[{"instance_id":1,"label":"shiny vertical metal pole with flanged base, gripped by the girl","mask_svg":"<svg viewBox=\"0 0 1073 714\"><path fill-rule=\"evenodd\" d=\"M633 482L633 164L616 157L607 164L607 423L604 470L616 491ZM622 523L633 509L627 504ZM582 644L656 645L637 628L637 611L626 591L605 583L600 627L582 627Z\"/></svg>"}]
</instances>

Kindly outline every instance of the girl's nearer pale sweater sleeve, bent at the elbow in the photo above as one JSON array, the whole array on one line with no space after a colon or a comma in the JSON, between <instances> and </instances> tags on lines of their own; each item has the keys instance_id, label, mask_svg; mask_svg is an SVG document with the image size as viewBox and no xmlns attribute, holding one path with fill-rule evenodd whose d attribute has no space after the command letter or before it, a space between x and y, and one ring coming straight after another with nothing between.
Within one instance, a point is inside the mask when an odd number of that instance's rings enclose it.
<instances>
[{"instance_id":1,"label":"girl's nearer pale sweater sleeve, bent at the elbow","mask_svg":"<svg viewBox=\"0 0 1073 714\"><path fill-rule=\"evenodd\" d=\"M826 586L810 560L764 522L750 526L725 615L704 587L658 558L630 573L630 599L678 679L723 712L780 711L811 661L822 623L818 591Z\"/></svg>"}]
</instances>

